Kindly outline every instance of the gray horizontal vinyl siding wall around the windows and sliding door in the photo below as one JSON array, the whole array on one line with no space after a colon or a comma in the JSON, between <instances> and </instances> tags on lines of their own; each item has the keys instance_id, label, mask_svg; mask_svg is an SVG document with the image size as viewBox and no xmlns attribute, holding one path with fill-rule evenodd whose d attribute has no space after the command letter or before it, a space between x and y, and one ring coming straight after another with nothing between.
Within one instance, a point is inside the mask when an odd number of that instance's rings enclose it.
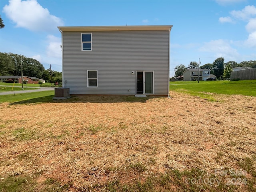
<instances>
[{"instance_id":1,"label":"gray horizontal vinyl siding wall around the windows and sliding door","mask_svg":"<svg viewBox=\"0 0 256 192\"><path fill-rule=\"evenodd\" d=\"M136 71L154 71L154 94L168 95L168 30L90 32L91 51L82 51L83 32L62 34L63 84L70 94L134 95ZM87 88L87 70L98 70L98 88Z\"/></svg>"}]
</instances>

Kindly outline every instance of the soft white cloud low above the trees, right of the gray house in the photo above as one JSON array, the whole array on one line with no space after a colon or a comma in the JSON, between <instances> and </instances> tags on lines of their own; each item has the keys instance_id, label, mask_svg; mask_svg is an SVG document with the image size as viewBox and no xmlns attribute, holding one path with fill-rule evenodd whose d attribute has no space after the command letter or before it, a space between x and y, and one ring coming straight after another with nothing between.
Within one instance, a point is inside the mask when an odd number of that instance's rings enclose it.
<instances>
[{"instance_id":1,"label":"soft white cloud low above the trees, right of the gray house","mask_svg":"<svg viewBox=\"0 0 256 192\"><path fill-rule=\"evenodd\" d=\"M199 48L202 52L210 52L215 57L224 57L226 60L237 60L239 54L236 49L231 47L232 42L228 40L212 40L205 42L202 47Z\"/></svg>"}]
</instances>

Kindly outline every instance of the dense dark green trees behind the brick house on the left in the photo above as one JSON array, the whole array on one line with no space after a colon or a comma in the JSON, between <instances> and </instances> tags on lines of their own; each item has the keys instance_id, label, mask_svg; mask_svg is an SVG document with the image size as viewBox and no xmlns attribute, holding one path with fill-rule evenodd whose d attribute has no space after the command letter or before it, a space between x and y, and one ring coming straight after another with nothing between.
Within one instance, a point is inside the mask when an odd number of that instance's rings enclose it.
<instances>
[{"instance_id":1,"label":"dense dark green trees behind the brick house on the left","mask_svg":"<svg viewBox=\"0 0 256 192\"><path fill-rule=\"evenodd\" d=\"M21 76L21 63L23 76L44 79L46 82L62 82L62 72L45 70L36 59L23 55L0 52L0 76Z\"/></svg>"}]
</instances>

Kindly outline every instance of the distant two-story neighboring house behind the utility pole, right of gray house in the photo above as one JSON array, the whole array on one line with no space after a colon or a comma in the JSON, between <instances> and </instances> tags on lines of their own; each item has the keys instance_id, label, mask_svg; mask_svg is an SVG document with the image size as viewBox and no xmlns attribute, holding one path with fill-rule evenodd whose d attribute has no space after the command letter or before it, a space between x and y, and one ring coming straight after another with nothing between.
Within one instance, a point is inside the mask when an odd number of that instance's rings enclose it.
<instances>
[{"instance_id":1,"label":"distant two-story neighboring house behind the utility pole, right of gray house","mask_svg":"<svg viewBox=\"0 0 256 192\"><path fill-rule=\"evenodd\" d=\"M206 81L210 78L210 69L199 69L199 80ZM196 81L198 80L198 69L186 69L183 72L184 81Z\"/></svg>"}]
</instances>

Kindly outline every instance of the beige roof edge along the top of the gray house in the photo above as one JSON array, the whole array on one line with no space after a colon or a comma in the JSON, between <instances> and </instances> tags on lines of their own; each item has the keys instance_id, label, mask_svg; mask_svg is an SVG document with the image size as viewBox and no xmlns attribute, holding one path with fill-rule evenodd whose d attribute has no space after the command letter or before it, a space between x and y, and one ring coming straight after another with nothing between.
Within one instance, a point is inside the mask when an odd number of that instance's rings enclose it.
<instances>
[{"instance_id":1,"label":"beige roof edge along the top of the gray house","mask_svg":"<svg viewBox=\"0 0 256 192\"><path fill-rule=\"evenodd\" d=\"M138 25L138 26L59 26L61 31L145 31L145 30L170 30L172 25Z\"/></svg>"}]
</instances>

